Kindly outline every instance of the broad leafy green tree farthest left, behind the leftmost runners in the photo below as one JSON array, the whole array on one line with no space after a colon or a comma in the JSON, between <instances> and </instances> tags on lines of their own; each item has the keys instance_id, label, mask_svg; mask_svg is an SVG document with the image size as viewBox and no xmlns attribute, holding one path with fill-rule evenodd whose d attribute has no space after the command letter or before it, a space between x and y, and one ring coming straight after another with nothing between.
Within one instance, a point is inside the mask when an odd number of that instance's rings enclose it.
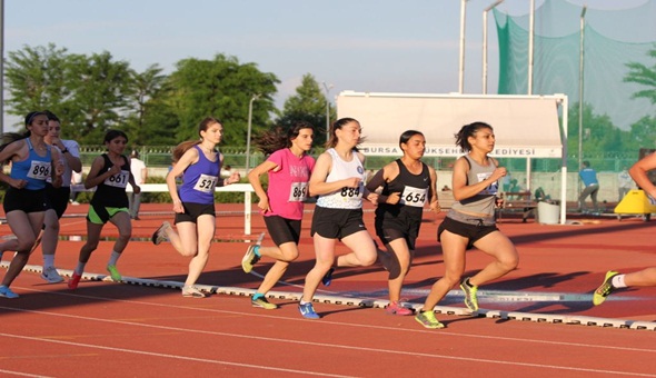
<instances>
[{"instance_id":1,"label":"broad leafy green tree farthest left, behind the leftmost runners","mask_svg":"<svg viewBox=\"0 0 656 378\"><path fill-rule=\"evenodd\" d=\"M66 136L97 145L109 128L122 128L133 92L129 64L107 51L69 54L66 49L24 47L8 53L9 113L48 109L64 122Z\"/></svg>"}]
</instances>

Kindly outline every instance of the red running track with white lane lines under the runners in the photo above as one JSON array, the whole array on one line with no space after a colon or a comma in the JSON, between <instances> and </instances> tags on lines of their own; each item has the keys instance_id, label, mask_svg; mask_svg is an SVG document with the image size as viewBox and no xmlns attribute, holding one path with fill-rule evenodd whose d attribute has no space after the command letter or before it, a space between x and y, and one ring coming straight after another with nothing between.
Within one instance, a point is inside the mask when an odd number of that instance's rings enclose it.
<instances>
[{"instance_id":1,"label":"red running track with white lane lines under the runners","mask_svg":"<svg viewBox=\"0 0 656 378\"><path fill-rule=\"evenodd\" d=\"M170 215L170 206L143 205L142 220L133 222L133 237L148 238ZM217 206L220 211L242 206ZM310 208L311 209L311 208ZM85 206L68 213L83 213ZM366 212L372 230L372 215ZM435 240L437 222L427 215L417 256L404 297L419 306L433 282L444 272L441 250ZM289 269L280 292L298 294L314 263L309 238L310 216L304 223L301 257ZM264 222L254 217L254 233ZM212 255L200 284L221 288L257 288L259 278L241 271L245 251L242 216L218 218ZM513 317L438 314L447 328L428 330L413 317L387 316L380 308L316 304L320 320L306 320L292 299L275 298L278 310L252 308L246 296L213 295L190 299L161 287L86 281L76 291L64 284L49 285L33 271L13 284L19 299L0 298L0 375L180 377L202 374L233 376L320 375L387 377L429 376L580 377L656 376L656 335L653 330L584 326L551 318L605 318L653 325L656 289L614 294L592 306L592 291L608 269L630 271L654 265L653 222L639 219L596 219L584 226L544 226L504 219L499 228L520 253L519 269L480 288L481 312L530 314L545 321ZM9 233L0 226L0 236ZM64 218L61 233L85 233L85 219ZM116 236L111 225L106 235ZM265 239L265 245L270 242ZM72 269L80 241L63 240L57 255L60 269ZM88 272L105 273L111 249L101 242ZM340 247L339 253L345 252ZM489 259L468 252L468 273ZM9 257L6 256L3 262ZM188 259L168 245L132 241L119 261L127 277L181 282ZM255 268L265 273L271 261ZM40 266L40 250L30 265ZM379 265L339 269L321 294L384 300L386 273ZM286 297L290 298L290 297ZM439 304L463 309L454 291ZM459 311L453 311L459 312ZM653 329L653 328L648 328Z\"/></svg>"}]
</instances>

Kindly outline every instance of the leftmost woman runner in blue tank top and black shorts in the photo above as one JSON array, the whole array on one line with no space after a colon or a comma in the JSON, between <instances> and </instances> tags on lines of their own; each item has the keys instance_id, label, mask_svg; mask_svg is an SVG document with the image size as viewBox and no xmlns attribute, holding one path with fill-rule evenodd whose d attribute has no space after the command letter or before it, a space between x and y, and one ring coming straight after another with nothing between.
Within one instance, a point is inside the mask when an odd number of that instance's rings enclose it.
<instances>
[{"instance_id":1,"label":"leftmost woman runner in blue tank top and black shorts","mask_svg":"<svg viewBox=\"0 0 656 378\"><path fill-rule=\"evenodd\" d=\"M9 185L2 206L7 223L16 236L0 245L0 255L6 250L16 251L0 282L0 297L9 299L19 297L10 286L28 263L43 227L48 206L46 180L50 178L52 185L59 187L63 173L59 150L46 143L48 115L32 111L24 122L26 133L4 133L0 146L0 162L11 162L9 176L0 169L0 180Z\"/></svg>"}]
</instances>

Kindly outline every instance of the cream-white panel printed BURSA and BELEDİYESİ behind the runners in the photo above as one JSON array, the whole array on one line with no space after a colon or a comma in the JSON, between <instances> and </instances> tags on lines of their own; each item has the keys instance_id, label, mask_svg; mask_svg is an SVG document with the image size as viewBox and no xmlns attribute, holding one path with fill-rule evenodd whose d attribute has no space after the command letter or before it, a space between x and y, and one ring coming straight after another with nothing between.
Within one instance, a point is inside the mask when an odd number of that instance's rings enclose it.
<instances>
[{"instance_id":1,"label":"cream-white panel printed BURSA and BELED\u0130YES\u0130 behind the runners","mask_svg":"<svg viewBox=\"0 0 656 378\"><path fill-rule=\"evenodd\" d=\"M483 121L495 129L491 156L514 158L563 157L558 123L560 96L368 93L344 91L337 97L338 118L360 122L369 156L400 156L398 139L405 130L426 137L426 155L460 156L454 135L467 123Z\"/></svg>"}]
</instances>

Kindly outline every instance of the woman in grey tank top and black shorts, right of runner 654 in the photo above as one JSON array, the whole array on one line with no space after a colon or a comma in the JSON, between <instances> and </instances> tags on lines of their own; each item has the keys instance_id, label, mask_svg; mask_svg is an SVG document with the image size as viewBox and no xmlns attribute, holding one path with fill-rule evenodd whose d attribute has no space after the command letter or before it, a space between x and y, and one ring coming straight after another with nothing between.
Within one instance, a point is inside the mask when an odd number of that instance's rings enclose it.
<instances>
[{"instance_id":1,"label":"woman in grey tank top and black shorts, right of runner 654","mask_svg":"<svg viewBox=\"0 0 656 378\"><path fill-rule=\"evenodd\" d=\"M513 241L496 226L495 209L499 205L498 181L506 168L488 156L495 149L495 133L488 123L465 125L456 135L456 145L465 156L454 166L451 188L456 202L437 229L441 242L445 275L430 288L424 307L415 319L426 328L444 328L435 318L434 308L456 285L465 295L465 306L478 310L478 287L517 268L519 256ZM471 247L494 258L473 277L461 279L466 252Z\"/></svg>"}]
</instances>

